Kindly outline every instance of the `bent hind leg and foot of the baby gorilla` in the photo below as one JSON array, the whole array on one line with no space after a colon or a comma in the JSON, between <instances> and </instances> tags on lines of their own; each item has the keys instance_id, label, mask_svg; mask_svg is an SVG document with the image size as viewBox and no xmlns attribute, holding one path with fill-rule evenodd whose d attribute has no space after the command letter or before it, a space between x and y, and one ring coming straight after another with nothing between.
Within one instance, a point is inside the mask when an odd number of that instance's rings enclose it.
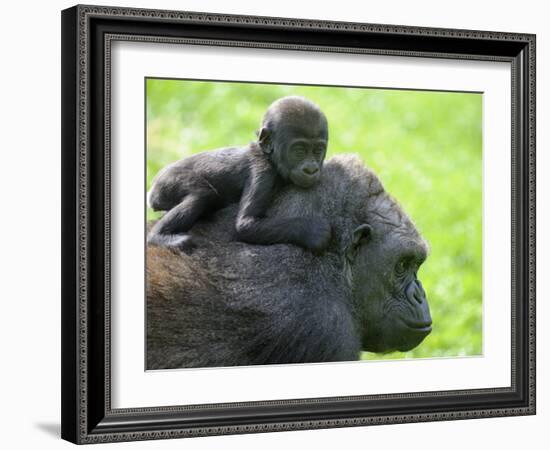
<instances>
[{"instance_id":1,"label":"bent hind leg and foot of the baby gorilla","mask_svg":"<svg viewBox=\"0 0 550 450\"><path fill-rule=\"evenodd\" d=\"M194 244L187 231L203 214L217 208L218 203L218 196L211 191L188 194L155 223L149 231L147 243L190 252Z\"/></svg>"}]
</instances>

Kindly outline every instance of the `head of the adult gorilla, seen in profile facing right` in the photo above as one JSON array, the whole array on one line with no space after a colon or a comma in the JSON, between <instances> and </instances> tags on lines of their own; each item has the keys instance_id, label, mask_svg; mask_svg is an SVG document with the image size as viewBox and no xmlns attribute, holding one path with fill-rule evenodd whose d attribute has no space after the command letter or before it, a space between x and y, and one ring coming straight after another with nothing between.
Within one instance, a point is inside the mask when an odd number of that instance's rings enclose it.
<instances>
[{"instance_id":1,"label":"head of the adult gorilla, seen in profile facing right","mask_svg":"<svg viewBox=\"0 0 550 450\"><path fill-rule=\"evenodd\" d=\"M374 172L357 156L335 156L315 191L279 202L273 215L330 218L363 350L408 351L424 340L432 320L418 270L428 245Z\"/></svg>"}]
</instances>

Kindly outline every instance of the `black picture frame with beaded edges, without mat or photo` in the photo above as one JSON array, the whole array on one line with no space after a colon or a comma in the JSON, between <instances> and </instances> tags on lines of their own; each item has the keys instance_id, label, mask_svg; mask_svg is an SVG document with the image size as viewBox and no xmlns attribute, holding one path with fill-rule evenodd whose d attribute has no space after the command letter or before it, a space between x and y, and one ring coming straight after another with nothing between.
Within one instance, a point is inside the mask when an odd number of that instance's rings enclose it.
<instances>
[{"instance_id":1,"label":"black picture frame with beaded edges, without mat or photo","mask_svg":"<svg viewBox=\"0 0 550 450\"><path fill-rule=\"evenodd\" d=\"M417 394L112 409L109 61L113 40L508 61L512 383ZM163 439L535 414L535 36L75 6L62 12L62 437Z\"/></svg>"}]
</instances>

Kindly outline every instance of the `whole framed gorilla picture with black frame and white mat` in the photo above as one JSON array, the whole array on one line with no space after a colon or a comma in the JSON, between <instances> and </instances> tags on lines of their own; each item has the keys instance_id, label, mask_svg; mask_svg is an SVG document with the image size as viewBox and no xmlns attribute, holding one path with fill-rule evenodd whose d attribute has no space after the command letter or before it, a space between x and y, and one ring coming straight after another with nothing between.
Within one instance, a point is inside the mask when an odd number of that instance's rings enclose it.
<instances>
[{"instance_id":1,"label":"whole framed gorilla picture with black frame and white mat","mask_svg":"<svg viewBox=\"0 0 550 450\"><path fill-rule=\"evenodd\" d=\"M62 12L62 437L535 414L535 36Z\"/></svg>"}]
</instances>

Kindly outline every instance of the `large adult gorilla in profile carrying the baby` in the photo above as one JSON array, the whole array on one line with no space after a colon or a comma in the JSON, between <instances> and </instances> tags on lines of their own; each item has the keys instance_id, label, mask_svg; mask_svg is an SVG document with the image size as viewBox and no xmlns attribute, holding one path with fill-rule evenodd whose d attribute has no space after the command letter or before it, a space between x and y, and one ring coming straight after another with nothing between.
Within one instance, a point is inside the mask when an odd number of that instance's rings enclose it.
<instances>
[{"instance_id":1,"label":"large adult gorilla in profile carrying the baby","mask_svg":"<svg viewBox=\"0 0 550 450\"><path fill-rule=\"evenodd\" d=\"M148 247L148 369L356 360L430 333L417 279L425 241L357 157L324 170L318 186L288 187L268 212L328 219L321 255L234 241L236 205L193 228L191 256Z\"/></svg>"}]
</instances>

